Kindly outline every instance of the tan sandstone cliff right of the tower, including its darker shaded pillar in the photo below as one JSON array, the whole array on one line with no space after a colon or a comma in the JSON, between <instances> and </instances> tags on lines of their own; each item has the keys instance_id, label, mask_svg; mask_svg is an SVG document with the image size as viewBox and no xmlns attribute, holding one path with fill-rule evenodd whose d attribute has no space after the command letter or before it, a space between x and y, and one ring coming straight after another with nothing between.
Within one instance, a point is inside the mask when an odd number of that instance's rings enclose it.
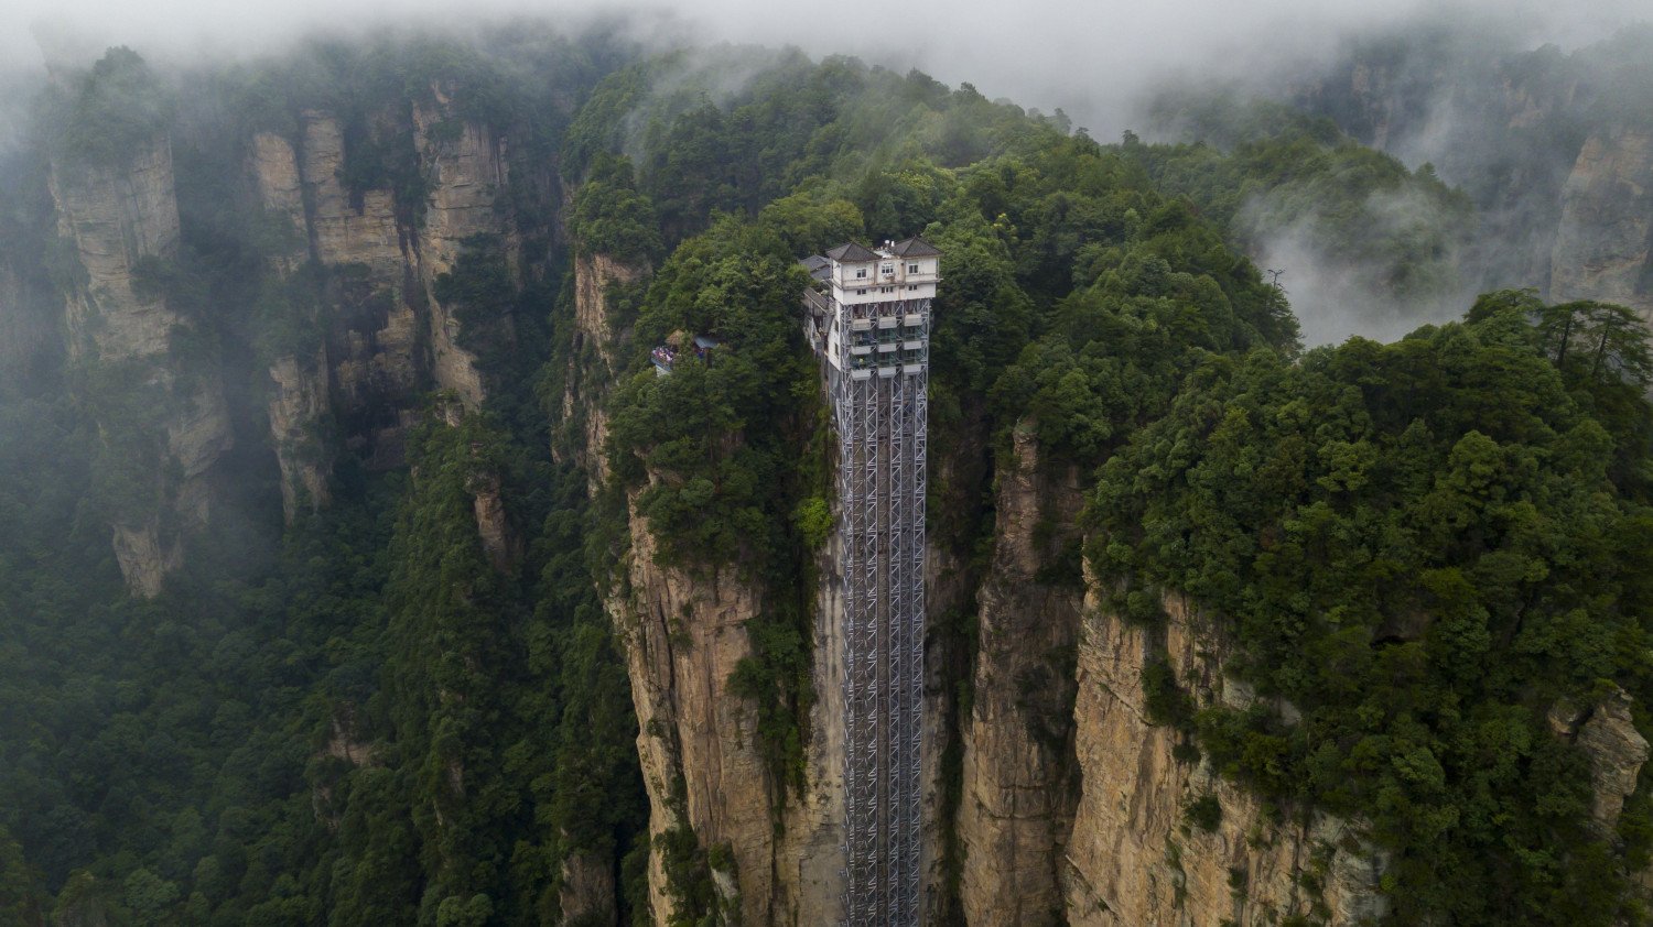
<instances>
[{"instance_id":1,"label":"tan sandstone cliff right of the tower, including its darker shaded pillar","mask_svg":"<svg viewBox=\"0 0 1653 927\"><path fill-rule=\"evenodd\" d=\"M1326 815L1279 818L1177 750L1147 719L1142 671L1167 661L1195 701L1240 704L1225 643L1167 600L1162 633L1127 625L1078 575L1083 483L1030 430L997 474L993 557L954 826L967 924L1236 925L1380 917L1382 854ZM1185 811L1213 796L1215 830Z\"/></svg>"}]
</instances>

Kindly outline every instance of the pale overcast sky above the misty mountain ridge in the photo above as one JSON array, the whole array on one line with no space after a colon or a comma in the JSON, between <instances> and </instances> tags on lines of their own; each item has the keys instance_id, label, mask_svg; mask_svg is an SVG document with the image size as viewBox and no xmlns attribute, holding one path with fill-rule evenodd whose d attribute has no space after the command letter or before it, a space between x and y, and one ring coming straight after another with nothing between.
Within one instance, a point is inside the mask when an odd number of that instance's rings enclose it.
<instances>
[{"instance_id":1,"label":"pale overcast sky above the misty mountain ridge","mask_svg":"<svg viewBox=\"0 0 1653 927\"><path fill-rule=\"evenodd\" d=\"M0 0L0 61L38 66L41 25L81 36L91 51L131 45L164 58L246 55L385 20L443 25L531 12L574 23L626 8L636 10L638 28L669 41L798 45L812 55L917 66L949 84L970 81L990 97L1061 106L1101 139L1127 127L1124 101L1150 81L1255 76L1408 18L1496 18L1534 46L1575 46L1653 18L1653 0Z\"/></svg>"}]
</instances>

